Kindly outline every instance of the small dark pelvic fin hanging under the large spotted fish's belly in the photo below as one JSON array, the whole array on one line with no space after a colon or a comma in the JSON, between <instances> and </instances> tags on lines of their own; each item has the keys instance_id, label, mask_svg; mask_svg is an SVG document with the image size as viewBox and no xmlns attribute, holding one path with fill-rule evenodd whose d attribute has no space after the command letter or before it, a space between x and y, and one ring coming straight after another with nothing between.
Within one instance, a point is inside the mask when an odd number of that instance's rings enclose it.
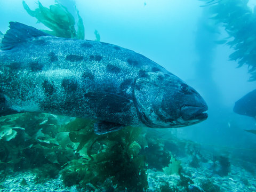
<instances>
[{"instance_id":1,"label":"small dark pelvic fin hanging under the large spotted fish's belly","mask_svg":"<svg viewBox=\"0 0 256 192\"><path fill-rule=\"evenodd\" d=\"M125 125L118 123L111 123L107 121L100 121L94 124L94 133L95 134L106 134L114 131L121 130L125 127Z\"/></svg>"}]
</instances>

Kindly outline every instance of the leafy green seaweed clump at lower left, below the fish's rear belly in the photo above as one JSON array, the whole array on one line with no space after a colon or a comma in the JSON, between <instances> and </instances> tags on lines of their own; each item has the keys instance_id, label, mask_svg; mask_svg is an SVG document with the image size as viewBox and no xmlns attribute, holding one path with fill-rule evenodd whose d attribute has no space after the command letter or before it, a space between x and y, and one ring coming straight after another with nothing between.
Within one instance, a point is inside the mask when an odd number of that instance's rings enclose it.
<instances>
[{"instance_id":1,"label":"leafy green seaweed clump at lower left, below the fish's rear belly","mask_svg":"<svg viewBox=\"0 0 256 192\"><path fill-rule=\"evenodd\" d=\"M18 129L11 140L4 140L5 137L0 140L0 167L22 170L52 164L59 169L70 158L75 158L72 146L60 145L65 135L66 142L71 141L68 134L59 132L59 122L51 114L24 113L2 117L0 129L3 127Z\"/></svg>"}]
</instances>

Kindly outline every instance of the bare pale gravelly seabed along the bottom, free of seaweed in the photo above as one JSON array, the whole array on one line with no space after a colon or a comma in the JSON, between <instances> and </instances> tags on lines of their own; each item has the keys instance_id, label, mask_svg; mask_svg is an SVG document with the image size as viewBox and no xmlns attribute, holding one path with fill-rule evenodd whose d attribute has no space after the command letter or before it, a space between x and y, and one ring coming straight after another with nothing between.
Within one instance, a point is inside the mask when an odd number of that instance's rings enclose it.
<instances>
[{"instance_id":1,"label":"bare pale gravelly seabed along the bottom, free of seaweed","mask_svg":"<svg viewBox=\"0 0 256 192\"><path fill-rule=\"evenodd\" d=\"M167 175L163 171L148 169L148 189L145 191L256 191L255 175L246 171L243 167L231 164L229 174L221 177L218 174L214 174L210 169L213 165L212 162L206 162L199 168L193 168L186 163L190 161L188 157L182 158L181 161L183 172L186 173L183 175L186 179L182 180L185 185L189 185L188 188L181 185L179 175ZM2 170L1 191L111 191L104 188L96 189L90 183L83 188L79 185L65 187L60 175L56 179L49 179L43 183L36 183L35 178L36 175L31 170L8 173ZM204 190L203 188L207 189Z\"/></svg>"}]
</instances>

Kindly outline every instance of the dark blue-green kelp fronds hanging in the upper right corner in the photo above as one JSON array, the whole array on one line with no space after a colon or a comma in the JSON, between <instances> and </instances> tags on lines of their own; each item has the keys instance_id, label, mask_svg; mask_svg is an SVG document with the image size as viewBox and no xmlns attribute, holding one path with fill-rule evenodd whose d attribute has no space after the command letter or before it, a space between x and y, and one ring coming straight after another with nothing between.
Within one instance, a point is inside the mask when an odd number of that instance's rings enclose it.
<instances>
[{"instance_id":1,"label":"dark blue-green kelp fronds hanging in the upper right corner","mask_svg":"<svg viewBox=\"0 0 256 192\"><path fill-rule=\"evenodd\" d=\"M249 81L256 81L256 14L247 6L249 0L200 0L210 6L211 19L222 23L228 37L219 43L226 43L235 52L230 60L238 61L238 67L248 65Z\"/></svg>"}]
</instances>

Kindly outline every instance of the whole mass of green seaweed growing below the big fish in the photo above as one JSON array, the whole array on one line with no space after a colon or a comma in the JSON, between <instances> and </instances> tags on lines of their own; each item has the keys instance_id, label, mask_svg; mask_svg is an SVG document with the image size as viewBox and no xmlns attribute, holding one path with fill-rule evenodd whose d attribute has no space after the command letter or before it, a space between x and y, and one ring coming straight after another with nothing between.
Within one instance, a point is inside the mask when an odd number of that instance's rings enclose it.
<instances>
[{"instance_id":1,"label":"whole mass of green seaweed growing below the big fish","mask_svg":"<svg viewBox=\"0 0 256 192\"><path fill-rule=\"evenodd\" d=\"M92 119L37 113L13 116L15 118L7 116L0 120L12 119L6 121L6 125L16 125L24 129L19 129L16 137L10 141L0 140L0 157L3 162L0 163L0 168L10 167L14 171L33 170L36 183L43 183L61 175L66 186L78 185L84 189L90 188L90 191L145 191L148 188L149 164L151 169L158 170L169 165L170 170L165 172L177 174L173 177L180 178L170 188L163 186L163 191L188 189L193 183L182 175L184 173L180 161L166 149L171 141L155 137L154 131L152 134L141 127L125 127L118 132L97 135L93 131L95 120ZM177 145L172 142L174 146ZM153 143L155 147L148 151ZM188 142L179 146L179 150L186 153L194 148ZM165 155L169 155L170 159L159 160ZM150 163L156 159L149 158L150 156L158 156L158 162ZM15 159L18 161L14 162ZM157 167L158 163L161 165Z\"/></svg>"}]
</instances>

